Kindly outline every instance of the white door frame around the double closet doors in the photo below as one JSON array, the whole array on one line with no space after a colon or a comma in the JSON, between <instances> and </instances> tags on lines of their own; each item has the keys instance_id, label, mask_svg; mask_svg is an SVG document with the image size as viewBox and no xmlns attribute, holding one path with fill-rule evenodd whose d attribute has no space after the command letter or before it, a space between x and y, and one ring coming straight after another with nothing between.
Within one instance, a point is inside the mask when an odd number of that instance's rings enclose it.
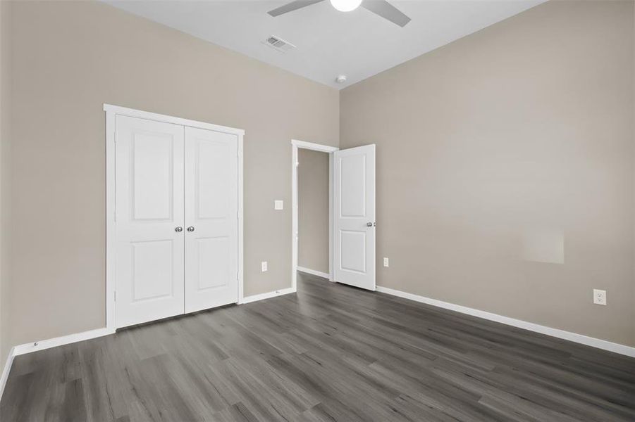
<instances>
[{"instance_id":1,"label":"white door frame around the double closet doors","mask_svg":"<svg viewBox=\"0 0 635 422\"><path fill-rule=\"evenodd\" d=\"M245 131L196 120L134 110L104 104L106 112L106 329L114 332L115 319L115 118L118 115L138 117L156 122L180 124L238 136L238 303L243 302L243 208L242 208L242 141Z\"/></svg>"}]
</instances>

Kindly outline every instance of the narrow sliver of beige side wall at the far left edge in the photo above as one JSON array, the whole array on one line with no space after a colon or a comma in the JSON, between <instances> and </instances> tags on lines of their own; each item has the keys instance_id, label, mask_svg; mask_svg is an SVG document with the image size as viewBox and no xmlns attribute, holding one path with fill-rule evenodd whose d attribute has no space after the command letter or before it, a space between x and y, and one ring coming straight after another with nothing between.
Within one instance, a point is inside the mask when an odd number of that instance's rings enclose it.
<instances>
[{"instance_id":1,"label":"narrow sliver of beige side wall at the far left edge","mask_svg":"<svg viewBox=\"0 0 635 422\"><path fill-rule=\"evenodd\" d=\"M10 148L8 137L8 101L11 87L11 43L9 42L10 24L9 8L11 4L0 1L0 371L4 367L6 357L11 350L8 331L9 311L9 177L11 176L9 160Z\"/></svg>"}]
</instances>

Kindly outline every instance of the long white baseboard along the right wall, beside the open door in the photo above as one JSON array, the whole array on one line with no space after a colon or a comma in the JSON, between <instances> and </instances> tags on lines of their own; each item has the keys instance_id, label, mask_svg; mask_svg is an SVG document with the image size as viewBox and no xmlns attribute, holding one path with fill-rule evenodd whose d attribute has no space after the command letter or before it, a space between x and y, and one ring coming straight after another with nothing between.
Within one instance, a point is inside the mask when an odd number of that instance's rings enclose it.
<instances>
[{"instance_id":1,"label":"long white baseboard along the right wall, beside the open door","mask_svg":"<svg viewBox=\"0 0 635 422\"><path fill-rule=\"evenodd\" d=\"M522 321L521 319L514 319L508 316L492 314L491 312L481 311L479 309L461 305L455 305L453 303L443 302L441 300L426 298L425 296L414 295L413 293L406 293L402 292L401 290L394 290L392 288L377 286L377 291L381 293L387 293L388 295L399 296L400 298L414 300L415 302L426 303L427 305L432 305L443 309L450 309L451 311L460 312L462 314L478 316L479 318L488 319L489 321L500 322L501 324L506 324L518 328L524 328L525 330L550 335L551 337L562 338L563 340L569 340L574 343L597 347L598 349L608 350L609 352L615 352L619 354L625 354L626 356L635 357L635 347L620 345L619 343L612 343L607 340L600 340L599 338L588 337L588 335L572 333L570 331L564 331L558 328L541 326L532 322Z\"/></svg>"}]
</instances>

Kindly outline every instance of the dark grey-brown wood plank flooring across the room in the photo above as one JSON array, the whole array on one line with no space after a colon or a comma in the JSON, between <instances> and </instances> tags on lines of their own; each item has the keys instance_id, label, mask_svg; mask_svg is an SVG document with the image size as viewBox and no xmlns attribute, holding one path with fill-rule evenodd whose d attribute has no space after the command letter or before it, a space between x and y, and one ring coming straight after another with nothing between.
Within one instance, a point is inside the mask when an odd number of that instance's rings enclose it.
<instances>
[{"instance_id":1,"label":"dark grey-brown wood plank flooring across the room","mask_svg":"<svg viewBox=\"0 0 635 422\"><path fill-rule=\"evenodd\" d=\"M635 421L635 359L301 274L16 357L0 421Z\"/></svg>"}]
</instances>

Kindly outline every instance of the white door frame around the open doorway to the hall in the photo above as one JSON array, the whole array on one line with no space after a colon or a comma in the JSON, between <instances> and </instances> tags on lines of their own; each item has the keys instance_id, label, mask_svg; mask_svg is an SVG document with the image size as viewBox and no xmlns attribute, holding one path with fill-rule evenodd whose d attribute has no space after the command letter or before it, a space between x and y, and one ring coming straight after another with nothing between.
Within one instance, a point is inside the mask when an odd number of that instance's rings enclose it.
<instances>
[{"instance_id":1,"label":"white door frame around the open doorway to the hall","mask_svg":"<svg viewBox=\"0 0 635 422\"><path fill-rule=\"evenodd\" d=\"M297 290L297 149L328 153L328 280L333 281L333 153L340 148L291 139L291 281Z\"/></svg>"}]
</instances>

